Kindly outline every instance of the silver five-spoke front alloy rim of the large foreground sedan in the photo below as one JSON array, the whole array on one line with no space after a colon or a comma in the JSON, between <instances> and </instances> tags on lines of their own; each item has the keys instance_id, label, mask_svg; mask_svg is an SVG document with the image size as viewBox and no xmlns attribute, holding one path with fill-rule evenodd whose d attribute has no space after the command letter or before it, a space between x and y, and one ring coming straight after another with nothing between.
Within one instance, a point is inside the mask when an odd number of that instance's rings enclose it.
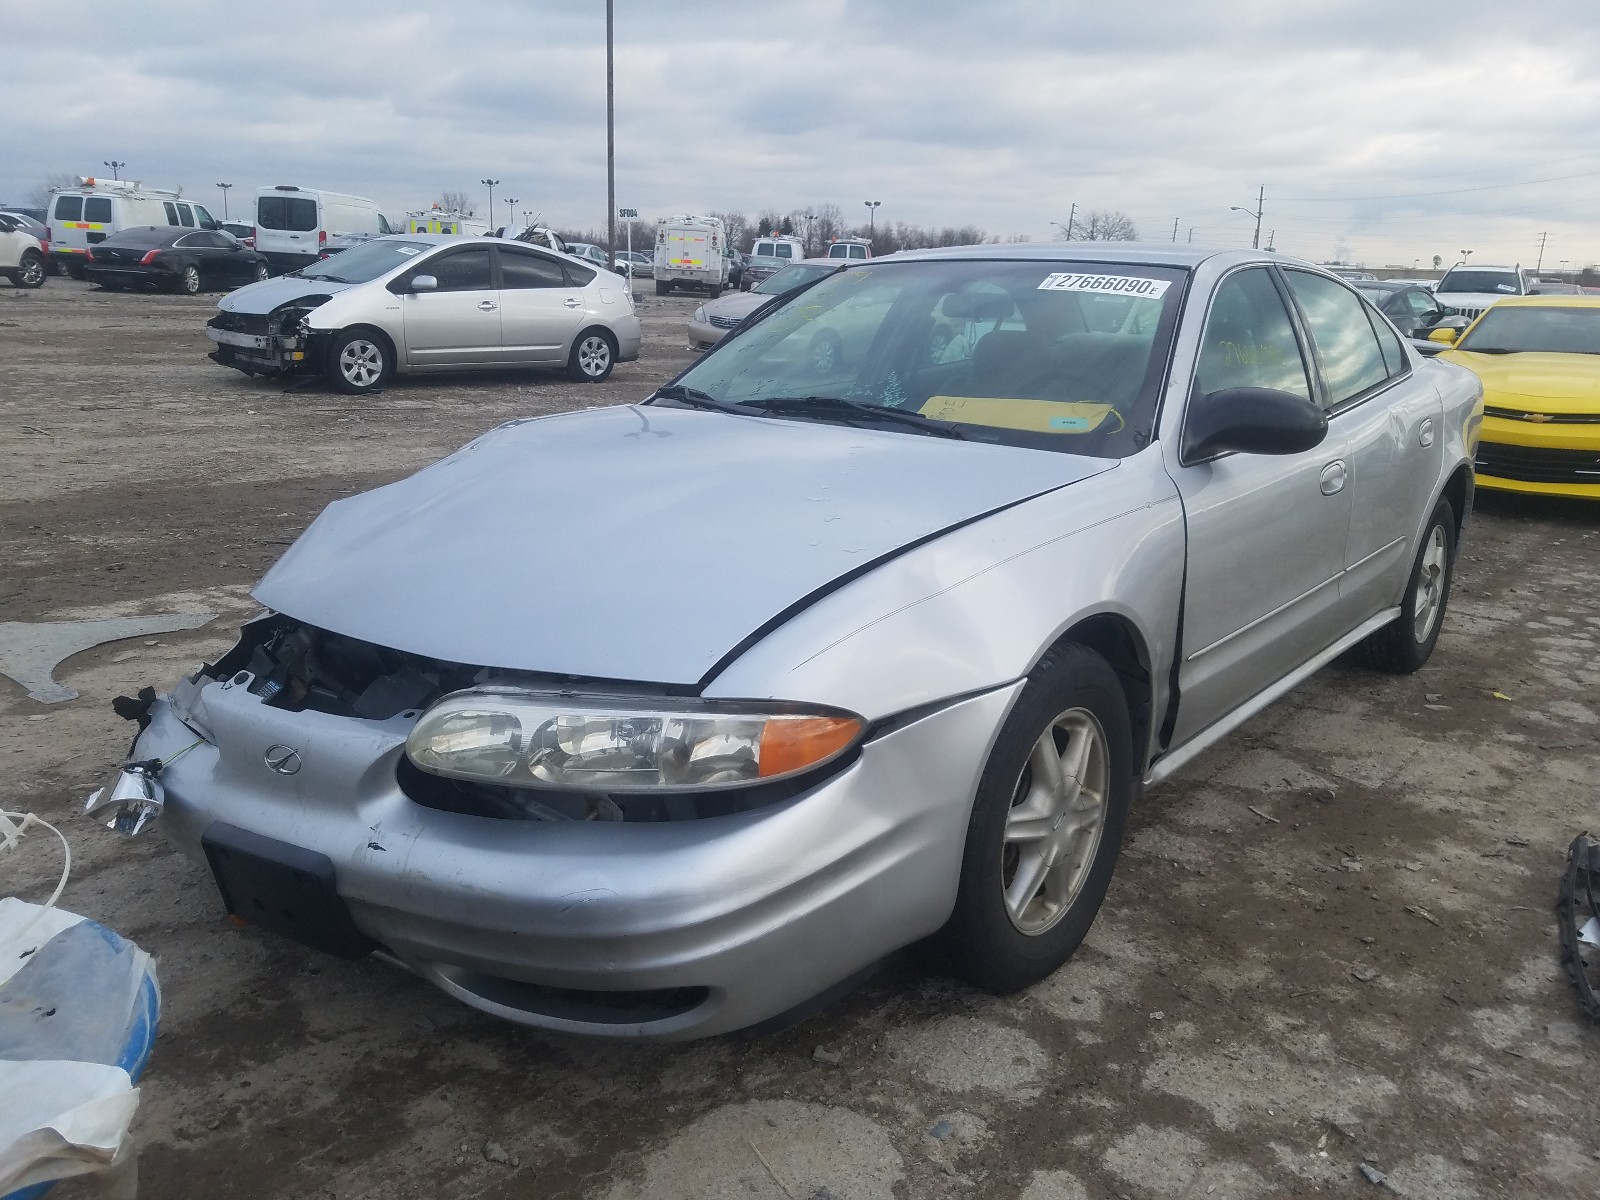
<instances>
[{"instance_id":1,"label":"silver five-spoke front alloy rim of the large foreground sedan","mask_svg":"<svg viewBox=\"0 0 1600 1200\"><path fill-rule=\"evenodd\" d=\"M1034 742L1016 781L1000 853L1006 915L1019 933L1053 928L1077 899L1110 803L1110 749L1088 709L1067 709Z\"/></svg>"}]
</instances>

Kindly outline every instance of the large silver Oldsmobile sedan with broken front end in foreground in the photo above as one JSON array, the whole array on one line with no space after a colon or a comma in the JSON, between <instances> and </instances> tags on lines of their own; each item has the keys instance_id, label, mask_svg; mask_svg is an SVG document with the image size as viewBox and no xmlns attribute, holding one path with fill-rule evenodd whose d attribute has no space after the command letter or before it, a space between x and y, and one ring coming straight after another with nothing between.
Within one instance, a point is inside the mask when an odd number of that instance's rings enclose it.
<instances>
[{"instance_id":1,"label":"large silver Oldsmobile sedan with broken front end in foreground","mask_svg":"<svg viewBox=\"0 0 1600 1200\"><path fill-rule=\"evenodd\" d=\"M1010 992L1142 789L1347 650L1427 661L1480 419L1282 256L850 266L331 504L232 651L122 704L91 811L546 1029L762 1026L912 944Z\"/></svg>"}]
</instances>

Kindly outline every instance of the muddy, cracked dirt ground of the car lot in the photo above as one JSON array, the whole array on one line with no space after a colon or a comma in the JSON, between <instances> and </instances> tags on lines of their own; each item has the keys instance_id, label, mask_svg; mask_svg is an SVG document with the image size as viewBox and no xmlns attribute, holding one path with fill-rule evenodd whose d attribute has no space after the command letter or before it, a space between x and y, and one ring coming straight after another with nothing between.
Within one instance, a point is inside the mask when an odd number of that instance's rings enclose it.
<instances>
[{"instance_id":1,"label":"muddy, cracked dirt ground of the car lot","mask_svg":"<svg viewBox=\"0 0 1600 1200\"><path fill-rule=\"evenodd\" d=\"M501 421L643 397L688 360L693 301L646 296L643 355L605 386L366 400L213 365L213 304L0 285L0 622L219 614L77 654L70 702L0 677L0 802L72 840L62 904L160 963L146 1195L1600 1190L1600 1029L1552 918L1566 843L1600 826L1600 506L1482 498L1432 664L1334 664L1147 794L1088 942L1027 994L901 957L766 1038L579 1042L238 931L165 840L78 811L128 742L110 698L224 650L322 506ZM0 890L43 899L58 870L30 838Z\"/></svg>"}]
</instances>

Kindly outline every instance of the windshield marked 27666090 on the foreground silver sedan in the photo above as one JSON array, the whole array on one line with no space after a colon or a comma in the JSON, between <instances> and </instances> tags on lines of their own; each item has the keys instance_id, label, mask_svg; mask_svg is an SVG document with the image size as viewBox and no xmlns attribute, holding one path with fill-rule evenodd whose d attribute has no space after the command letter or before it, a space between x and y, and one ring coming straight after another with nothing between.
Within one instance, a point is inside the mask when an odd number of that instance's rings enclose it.
<instances>
[{"instance_id":1,"label":"windshield marked 27666090 on the foreground silver sedan","mask_svg":"<svg viewBox=\"0 0 1600 1200\"><path fill-rule=\"evenodd\" d=\"M970 440L1122 458L1150 440L1184 272L1072 262L848 267L678 381L714 402L856 424L890 410ZM829 403L834 402L834 403ZM870 416L870 414L866 414Z\"/></svg>"}]
</instances>

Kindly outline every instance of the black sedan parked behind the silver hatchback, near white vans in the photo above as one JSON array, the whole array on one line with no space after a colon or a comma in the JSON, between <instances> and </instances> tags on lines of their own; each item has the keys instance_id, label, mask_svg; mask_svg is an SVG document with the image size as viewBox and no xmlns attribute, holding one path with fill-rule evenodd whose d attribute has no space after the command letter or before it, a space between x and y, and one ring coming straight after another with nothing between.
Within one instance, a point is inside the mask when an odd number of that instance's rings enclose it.
<instances>
[{"instance_id":1,"label":"black sedan parked behind the silver hatchback, near white vans","mask_svg":"<svg viewBox=\"0 0 1600 1200\"><path fill-rule=\"evenodd\" d=\"M83 274L107 291L155 286L195 296L267 277L267 259L219 229L138 226L90 248Z\"/></svg>"}]
</instances>

